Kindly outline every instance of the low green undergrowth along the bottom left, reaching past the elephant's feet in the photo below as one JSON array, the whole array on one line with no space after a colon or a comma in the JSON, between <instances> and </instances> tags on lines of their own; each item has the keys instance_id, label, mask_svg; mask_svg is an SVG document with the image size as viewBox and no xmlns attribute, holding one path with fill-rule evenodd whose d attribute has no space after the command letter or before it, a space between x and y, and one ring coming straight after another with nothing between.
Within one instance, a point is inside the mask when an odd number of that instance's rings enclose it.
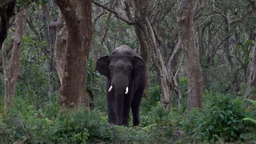
<instances>
[{"instance_id":1,"label":"low green undergrowth along the bottom left, reaching past the elephant's feet","mask_svg":"<svg viewBox=\"0 0 256 144\"><path fill-rule=\"evenodd\" d=\"M54 121L24 118L15 111L3 115L0 124L0 141L4 143L158 143L167 142L167 132L172 132L157 124L134 128L110 125L102 113L84 107L61 110Z\"/></svg>"}]
</instances>

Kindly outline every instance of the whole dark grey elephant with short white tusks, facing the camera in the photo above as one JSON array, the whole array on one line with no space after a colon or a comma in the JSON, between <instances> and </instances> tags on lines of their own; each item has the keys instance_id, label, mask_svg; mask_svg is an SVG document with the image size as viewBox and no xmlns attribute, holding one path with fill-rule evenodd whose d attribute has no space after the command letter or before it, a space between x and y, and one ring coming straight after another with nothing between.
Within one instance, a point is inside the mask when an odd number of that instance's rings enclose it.
<instances>
[{"instance_id":1,"label":"whole dark grey elephant with short white tusks, facing the camera","mask_svg":"<svg viewBox=\"0 0 256 144\"><path fill-rule=\"evenodd\" d=\"M98 73L106 76L108 122L129 127L139 125L139 104L145 86L146 63L127 45L115 48L108 56L98 58Z\"/></svg>"}]
</instances>

